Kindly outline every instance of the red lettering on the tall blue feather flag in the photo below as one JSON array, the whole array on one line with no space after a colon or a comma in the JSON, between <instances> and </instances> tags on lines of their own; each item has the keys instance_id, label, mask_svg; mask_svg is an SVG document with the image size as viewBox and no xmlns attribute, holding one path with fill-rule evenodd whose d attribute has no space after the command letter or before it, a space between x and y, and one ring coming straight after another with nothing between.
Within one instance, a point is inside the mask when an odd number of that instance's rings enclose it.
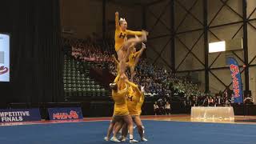
<instances>
[{"instance_id":1,"label":"red lettering on the tall blue feather flag","mask_svg":"<svg viewBox=\"0 0 256 144\"><path fill-rule=\"evenodd\" d=\"M233 79L233 91L234 91L234 98L240 97L240 87L239 87L239 81L237 78L237 74L239 74L239 67L235 66L233 64L230 65L231 70L231 77Z\"/></svg>"}]
</instances>

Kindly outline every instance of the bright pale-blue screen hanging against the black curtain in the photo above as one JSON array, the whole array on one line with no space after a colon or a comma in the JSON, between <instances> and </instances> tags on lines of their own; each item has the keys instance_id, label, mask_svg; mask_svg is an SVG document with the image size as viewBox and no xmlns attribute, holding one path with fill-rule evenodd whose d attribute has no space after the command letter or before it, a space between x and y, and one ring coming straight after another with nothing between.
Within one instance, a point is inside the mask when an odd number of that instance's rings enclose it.
<instances>
[{"instance_id":1,"label":"bright pale-blue screen hanging against the black curtain","mask_svg":"<svg viewBox=\"0 0 256 144\"><path fill-rule=\"evenodd\" d=\"M0 82L10 82L10 36L0 34Z\"/></svg>"}]
</instances>

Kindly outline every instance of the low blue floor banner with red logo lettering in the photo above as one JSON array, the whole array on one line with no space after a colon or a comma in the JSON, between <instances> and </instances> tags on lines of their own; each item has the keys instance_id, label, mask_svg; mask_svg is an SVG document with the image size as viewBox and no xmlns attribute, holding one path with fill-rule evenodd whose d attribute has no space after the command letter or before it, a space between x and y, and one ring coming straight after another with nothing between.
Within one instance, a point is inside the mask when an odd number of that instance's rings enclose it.
<instances>
[{"instance_id":1,"label":"low blue floor banner with red logo lettering","mask_svg":"<svg viewBox=\"0 0 256 144\"><path fill-rule=\"evenodd\" d=\"M82 119L80 107L48 108L50 120Z\"/></svg>"}]
</instances>

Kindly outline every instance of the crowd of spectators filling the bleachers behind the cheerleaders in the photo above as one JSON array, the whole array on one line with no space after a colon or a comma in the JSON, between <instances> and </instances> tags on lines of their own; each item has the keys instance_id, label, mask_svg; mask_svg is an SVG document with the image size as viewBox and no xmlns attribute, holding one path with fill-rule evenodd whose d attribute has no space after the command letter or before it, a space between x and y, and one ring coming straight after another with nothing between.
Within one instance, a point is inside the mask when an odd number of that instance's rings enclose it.
<instances>
[{"instance_id":1,"label":"crowd of spectators filling the bleachers behind the cheerleaders","mask_svg":"<svg viewBox=\"0 0 256 144\"><path fill-rule=\"evenodd\" d=\"M116 75L116 64L114 54L114 43L92 38L76 39L64 38L64 43L72 47L72 56L82 62L91 62L93 66L104 67L110 73ZM112 50L112 49L113 50ZM171 95L178 95L183 98L185 106L228 106L232 103L232 97L225 93L210 96L198 90L198 85L188 78L172 74L162 66L153 66L146 58L141 58L136 67L134 82L145 86L146 96L167 98ZM130 76L130 70L126 70Z\"/></svg>"}]
</instances>

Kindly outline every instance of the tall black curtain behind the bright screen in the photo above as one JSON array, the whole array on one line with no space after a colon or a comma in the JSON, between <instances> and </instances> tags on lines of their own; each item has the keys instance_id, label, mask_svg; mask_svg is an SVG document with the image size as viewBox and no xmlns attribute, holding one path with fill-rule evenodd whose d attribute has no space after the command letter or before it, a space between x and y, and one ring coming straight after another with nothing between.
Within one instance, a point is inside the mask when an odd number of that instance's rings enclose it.
<instances>
[{"instance_id":1,"label":"tall black curtain behind the bright screen","mask_svg":"<svg viewBox=\"0 0 256 144\"><path fill-rule=\"evenodd\" d=\"M62 47L58 0L6 0L0 32L10 33L11 82L0 83L0 102L61 102Z\"/></svg>"}]
</instances>

